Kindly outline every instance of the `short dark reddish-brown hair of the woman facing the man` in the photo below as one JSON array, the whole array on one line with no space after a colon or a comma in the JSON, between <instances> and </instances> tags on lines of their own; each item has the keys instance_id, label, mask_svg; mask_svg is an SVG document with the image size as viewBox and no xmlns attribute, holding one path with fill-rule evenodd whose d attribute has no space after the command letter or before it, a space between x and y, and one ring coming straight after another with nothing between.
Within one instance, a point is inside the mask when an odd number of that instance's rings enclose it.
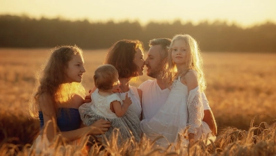
<instances>
[{"instance_id":1,"label":"short dark reddish-brown hair of the woman facing the man","mask_svg":"<svg viewBox=\"0 0 276 156\"><path fill-rule=\"evenodd\" d=\"M108 50L104 64L112 64L117 69L119 78L139 76L138 66L133 62L137 49L144 51L142 42L120 40Z\"/></svg>"}]
</instances>

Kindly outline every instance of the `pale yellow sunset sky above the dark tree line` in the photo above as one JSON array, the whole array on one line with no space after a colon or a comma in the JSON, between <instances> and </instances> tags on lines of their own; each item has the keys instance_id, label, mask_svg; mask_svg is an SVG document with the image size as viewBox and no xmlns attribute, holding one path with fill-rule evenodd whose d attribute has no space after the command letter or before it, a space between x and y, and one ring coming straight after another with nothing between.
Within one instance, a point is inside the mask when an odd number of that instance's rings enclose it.
<instances>
[{"instance_id":1,"label":"pale yellow sunset sky above the dark tree line","mask_svg":"<svg viewBox=\"0 0 276 156\"><path fill-rule=\"evenodd\" d=\"M275 0L0 0L0 15L89 21L227 21L251 26L276 22Z\"/></svg>"}]
</instances>

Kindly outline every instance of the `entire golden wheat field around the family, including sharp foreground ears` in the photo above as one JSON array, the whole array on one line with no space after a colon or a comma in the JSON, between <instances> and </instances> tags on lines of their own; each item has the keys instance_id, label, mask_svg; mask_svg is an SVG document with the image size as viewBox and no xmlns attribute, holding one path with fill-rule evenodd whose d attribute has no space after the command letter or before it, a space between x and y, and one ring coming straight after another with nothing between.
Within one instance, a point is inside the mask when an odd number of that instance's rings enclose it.
<instances>
[{"instance_id":1,"label":"entire golden wheat field around the family, including sharp foreground ears","mask_svg":"<svg viewBox=\"0 0 276 156\"><path fill-rule=\"evenodd\" d=\"M29 118L27 105L35 87L35 74L49 52L50 49L0 49L0 155L26 155L38 135L39 121ZM93 87L93 72L104 61L106 52L83 49L83 85L87 92ZM197 142L190 147L190 155L276 155L276 53L203 52L203 59L206 97L219 134L211 148L206 150ZM147 79L144 74L132 85L138 87ZM149 143L137 147L137 153L129 155L161 155ZM74 155L82 155L72 149ZM123 155L124 150L119 150L114 155ZM181 155L181 151L167 152L162 154Z\"/></svg>"}]
</instances>

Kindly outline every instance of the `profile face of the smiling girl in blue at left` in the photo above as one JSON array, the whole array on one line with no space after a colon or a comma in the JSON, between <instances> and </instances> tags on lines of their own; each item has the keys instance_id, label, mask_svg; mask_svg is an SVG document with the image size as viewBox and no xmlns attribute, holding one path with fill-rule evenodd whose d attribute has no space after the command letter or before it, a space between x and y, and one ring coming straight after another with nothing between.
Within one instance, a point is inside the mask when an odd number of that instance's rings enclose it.
<instances>
[{"instance_id":1,"label":"profile face of the smiling girl in blue at left","mask_svg":"<svg viewBox=\"0 0 276 156\"><path fill-rule=\"evenodd\" d=\"M65 71L65 78L67 83L81 83L83 73L86 72L83 64L83 57L81 55L77 54L72 56L72 60L68 62L68 68Z\"/></svg>"}]
</instances>

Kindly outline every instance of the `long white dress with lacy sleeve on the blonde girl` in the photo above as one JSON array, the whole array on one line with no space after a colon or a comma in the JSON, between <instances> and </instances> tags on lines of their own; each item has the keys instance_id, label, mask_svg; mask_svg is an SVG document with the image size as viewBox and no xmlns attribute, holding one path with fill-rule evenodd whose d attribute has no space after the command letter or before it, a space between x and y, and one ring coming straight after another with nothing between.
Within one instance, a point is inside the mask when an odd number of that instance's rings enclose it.
<instances>
[{"instance_id":1,"label":"long white dress with lacy sleeve on the blonde girl","mask_svg":"<svg viewBox=\"0 0 276 156\"><path fill-rule=\"evenodd\" d=\"M185 139L187 134L184 134L187 126L190 126L188 132L195 134L195 139L202 135L206 137L211 130L209 125L202 121L204 110L201 95L199 87L188 92L188 87L182 84L178 77L174 80L168 100L156 115L152 119L141 121L142 131L152 140L159 136L165 137L156 141L156 144L163 147L177 144L178 141L182 147L188 146L188 140Z\"/></svg>"}]
</instances>

